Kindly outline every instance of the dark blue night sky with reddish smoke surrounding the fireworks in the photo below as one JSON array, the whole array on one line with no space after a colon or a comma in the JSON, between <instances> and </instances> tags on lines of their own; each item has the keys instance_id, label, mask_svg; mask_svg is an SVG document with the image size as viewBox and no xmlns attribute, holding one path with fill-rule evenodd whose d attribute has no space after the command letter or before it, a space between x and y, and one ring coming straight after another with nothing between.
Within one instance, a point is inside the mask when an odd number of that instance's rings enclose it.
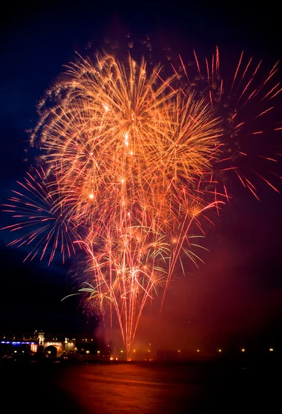
<instances>
[{"instance_id":1,"label":"dark blue night sky with reddish smoke surrounding the fireworks","mask_svg":"<svg viewBox=\"0 0 282 414\"><path fill-rule=\"evenodd\" d=\"M167 45L177 54L189 51L192 57L194 48L210 55L218 45L226 61L236 61L241 50L270 67L282 58L279 13L272 2L266 10L214 1L9 7L1 12L0 28L1 204L34 163L26 130L37 121L37 101L75 51L91 54L103 48L105 38L122 43L130 33L133 39L149 36L156 55ZM167 348L282 344L282 195L261 185L259 202L238 183L233 190L216 228L207 230L205 264L172 282L161 315L157 306L143 315L139 342L150 337ZM0 219L1 227L8 224L4 213ZM9 237L0 233L0 331L94 331L97 319L83 313L79 299L61 302L75 286L72 264L48 268L38 259L23 264L26 250L7 248Z\"/></svg>"}]
</instances>

